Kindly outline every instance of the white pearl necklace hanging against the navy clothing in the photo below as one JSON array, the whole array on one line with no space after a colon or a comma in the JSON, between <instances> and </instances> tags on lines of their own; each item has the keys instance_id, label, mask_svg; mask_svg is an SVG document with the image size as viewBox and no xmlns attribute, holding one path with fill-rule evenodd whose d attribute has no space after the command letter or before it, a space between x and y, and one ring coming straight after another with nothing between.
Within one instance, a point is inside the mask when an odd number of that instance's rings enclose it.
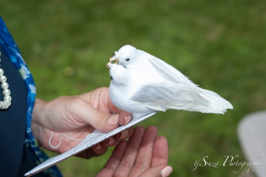
<instances>
[{"instance_id":1,"label":"white pearl necklace hanging against the navy clothing","mask_svg":"<svg viewBox=\"0 0 266 177\"><path fill-rule=\"evenodd\" d=\"M1 52L0 52L0 56L1 56ZM0 58L0 63L1 63L1 58ZM0 65L1 67L1 65ZM4 101L0 101L0 109L8 109L8 107L11 105L11 92L8 89L8 83L7 81L7 77L3 75L4 74L4 70L2 68L0 68L0 82L1 82L1 87L3 89L3 95L4 95Z\"/></svg>"}]
</instances>

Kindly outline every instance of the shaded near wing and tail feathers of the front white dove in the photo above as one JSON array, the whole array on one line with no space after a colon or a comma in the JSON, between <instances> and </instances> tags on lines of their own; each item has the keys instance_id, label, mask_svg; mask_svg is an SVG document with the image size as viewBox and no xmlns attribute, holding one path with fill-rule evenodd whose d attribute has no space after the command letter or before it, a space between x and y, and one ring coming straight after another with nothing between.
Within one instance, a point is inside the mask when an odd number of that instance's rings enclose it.
<instances>
[{"instance_id":1,"label":"shaded near wing and tail feathers of the front white dove","mask_svg":"<svg viewBox=\"0 0 266 177\"><path fill-rule=\"evenodd\" d=\"M165 89L166 85L167 89ZM233 108L228 101L212 91L205 89L195 91L195 89L170 81L143 85L136 90L130 100L140 102L157 111L180 109L223 114L226 109Z\"/></svg>"}]
</instances>

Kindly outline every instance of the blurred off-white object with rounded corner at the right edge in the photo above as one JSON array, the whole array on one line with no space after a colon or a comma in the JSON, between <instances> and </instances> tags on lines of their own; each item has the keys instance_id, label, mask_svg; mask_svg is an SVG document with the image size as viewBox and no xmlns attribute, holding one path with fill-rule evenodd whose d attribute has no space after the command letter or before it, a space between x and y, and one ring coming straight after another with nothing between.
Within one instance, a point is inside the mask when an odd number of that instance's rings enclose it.
<instances>
[{"instance_id":1,"label":"blurred off-white object with rounded corner at the right edge","mask_svg":"<svg viewBox=\"0 0 266 177\"><path fill-rule=\"evenodd\" d=\"M238 125L238 137L248 162L261 162L252 170L258 177L266 176L266 111L245 116Z\"/></svg>"}]
</instances>

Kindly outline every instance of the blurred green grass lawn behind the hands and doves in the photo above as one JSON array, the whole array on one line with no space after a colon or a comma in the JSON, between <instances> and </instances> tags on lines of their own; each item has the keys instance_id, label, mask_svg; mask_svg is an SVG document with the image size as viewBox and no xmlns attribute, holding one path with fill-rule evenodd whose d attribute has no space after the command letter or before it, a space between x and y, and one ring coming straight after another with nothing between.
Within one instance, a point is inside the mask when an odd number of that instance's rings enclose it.
<instances>
[{"instance_id":1,"label":"blurred green grass lawn behind the hands and doves","mask_svg":"<svg viewBox=\"0 0 266 177\"><path fill-rule=\"evenodd\" d=\"M265 1L1 1L0 13L37 86L51 100L106 87L110 55L130 44L173 65L194 83L230 101L225 115L179 110L141 122L169 142L171 176L238 176L238 167L199 167L208 155L223 163L244 154L237 125L266 109ZM58 164L64 176L93 176L101 157L71 157ZM50 155L55 155L50 153Z\"/></svg>"}]
</instances>

